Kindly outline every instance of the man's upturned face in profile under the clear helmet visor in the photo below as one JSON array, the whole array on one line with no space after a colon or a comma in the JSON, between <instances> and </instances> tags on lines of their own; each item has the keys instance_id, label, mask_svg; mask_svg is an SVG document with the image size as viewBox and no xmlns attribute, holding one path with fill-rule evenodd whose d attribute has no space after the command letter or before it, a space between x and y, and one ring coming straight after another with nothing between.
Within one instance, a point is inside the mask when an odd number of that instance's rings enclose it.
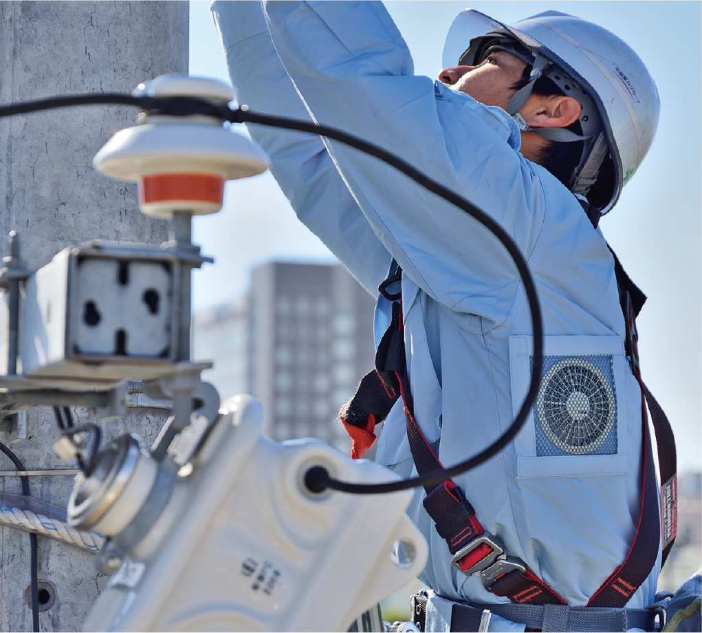
<instances>
[{"instance_id":1,"label":"man's upturned face in profile under the clear helmet visor","mask_svg":"<svg viewBox=\"0 0 702 633\"><path fill-rule=\"evenodd\" d=\"M527 63L507 51L495 51L477 66L455 66L439 72L439 81L454 90L472 96L484 105L498 105L508 110L510 99L517 92Z\"/></svg>"}]
</instances>

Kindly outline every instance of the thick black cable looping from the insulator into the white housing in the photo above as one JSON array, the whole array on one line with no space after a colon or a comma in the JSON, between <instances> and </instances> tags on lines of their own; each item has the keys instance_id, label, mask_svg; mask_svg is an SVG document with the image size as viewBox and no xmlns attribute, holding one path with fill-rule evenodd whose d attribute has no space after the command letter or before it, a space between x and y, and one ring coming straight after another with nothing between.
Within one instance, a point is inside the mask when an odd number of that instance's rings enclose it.
<instances>
[{"instance_id":1,"label":"thick black cable looping from the insulator into the white housing","mask_svg":"<svg viewBox=\"0 0 702 633\"><path fill-rule=\"evenodd\" d=\"M372 495L385 492L395 492L397 490L406 490L408 488L416 488L420 485L430 486L446 481L451 477L463 474L470 469L479 466L486 462L490 457L493 457L503 448L505 448L512 439L517 436L517 433L522 429L524 423L527 422L529 410L536 400L538 395L538 387L541 382L541 370L543 365L543 323L541 320L541 306L538 302L538 294L534 278L531 277L529 266L524 256L519 251L519 247L512 240L512 237L493 219L491 216L479 209L470 200L466 200L463 196L453 190L435 181L430 176L427 176L416 167L413 167L408 162L399 156L380 148L378 145L363 141L357 136L353 136L342 130L310 123L300 119L291 119L289 117L275 117L272 115L262 115L256 112L251 112L249 107L242 105L238 110L230 110L226 105L213 104L204 99L192 97L168 97L168 98L153 98L147 96L128 96L119 93L102 93L91 95L75 95L66 97L54 97L49 99L41 99L36 101L27 101L15 105L0 107L0 117L23 114L27 112L36 112L37 110L49 110L55 107L67 107L70 105L86 105L98 103L119 103L123 105L135 105L143 110L150 110L152 114L164 114L171 116L185 116L192 114L204 114L218 117L231 123L253 123L276 127L280 129L289 129L303 131L319 136L326 136L334 141L339 141L352 148L356 148L366 154L374 156L383 162L390 164L395 169L402 171L403 174L409 176L413 181L422 185L425 189L435 193L444 200L456 205L470 216L475 218L479 223L485 226L493 233L498 240L503 244L510 254L512 261L519 271L519 275L524 283L524 292L527 293L529 301L529 311L531 313L531 327L534 334L534 355L531 372L531 382L529 391L524 398L522 407L517 413L514 422L510 427L497 438L494 443L486 449L477 453L473 457L466 459L459 464L455 464L443 471L437 471L428 475L404 479L402 481L394 481L390 483L380 484L357 484L345 481L338 481L329 475L329 472L322 467L310 469L305 476L305 482L308 482L310 490L322 491L325 488L333 488L341 492L353 492L356 494Z\"/></svg>"}]
</instances>

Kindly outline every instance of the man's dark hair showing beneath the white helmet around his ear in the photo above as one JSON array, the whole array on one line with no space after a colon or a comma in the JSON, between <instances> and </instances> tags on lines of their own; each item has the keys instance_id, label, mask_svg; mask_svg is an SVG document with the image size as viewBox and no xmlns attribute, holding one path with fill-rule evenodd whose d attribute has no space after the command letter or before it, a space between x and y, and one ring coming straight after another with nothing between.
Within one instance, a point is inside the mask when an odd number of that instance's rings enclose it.
<instances>
[{"instance_id":1,"label":"man's dark hair showing beneath the white helmet around his ear","mask_svg":"<svg viewBox=\"0 0 702 633\"><path fill-rule=\"evenodd\" d=\"M522 88L522 86L526 86L529 83L529 74L531 74L531 66L527 65L522 73L522 79L512 87L518 90ZM531 90L531 93L544 97L565 96L565 93L557 86L557 84L555 84L554 81L548 77L544 77L543 75L534 81L534 87ZM576 134L583 133L583 129L579 121L567 126L567 129ZM584 141L573 141L572 143L548 143L548 145L541 150L539 162L542 167L548 169L551 174L553 174L559 181L568 187L574 169L578 167L578 164L580 164L580 159L583 155L584 143ZM611 156L607 155L602 162L602 167L600 167L597 180L590 188L590 192L588 192L586 197L588 198L588 202L590 202L593 207L602 209L607 202L609 202L612 190L614 190L614 163L612 162Z\"/></svg>"}]
</instances>

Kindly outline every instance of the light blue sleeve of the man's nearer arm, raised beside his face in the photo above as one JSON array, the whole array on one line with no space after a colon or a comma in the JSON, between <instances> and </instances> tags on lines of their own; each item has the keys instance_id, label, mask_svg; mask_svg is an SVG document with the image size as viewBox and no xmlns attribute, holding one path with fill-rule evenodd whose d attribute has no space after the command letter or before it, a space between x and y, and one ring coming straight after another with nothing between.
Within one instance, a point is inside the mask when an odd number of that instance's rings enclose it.
<instances>
[{"instance_id":1,"label":"light blue sleeve of the man's nearer arm, raised beside his face","mask_svg":"<svg viewBox=\"0 0 702 633\"><path fill-rule=\"evenodd\" d=\"M279 56L319 123L369 139L468 197L529 257L545 211L543 170L517 152L519 130L506 112L413 76L379 0L263 4ZM430 296L474 311L471 296L514 287L505 249L470 216L377 159L328 146L376 235Z\"/></svg>"}]
</instances>

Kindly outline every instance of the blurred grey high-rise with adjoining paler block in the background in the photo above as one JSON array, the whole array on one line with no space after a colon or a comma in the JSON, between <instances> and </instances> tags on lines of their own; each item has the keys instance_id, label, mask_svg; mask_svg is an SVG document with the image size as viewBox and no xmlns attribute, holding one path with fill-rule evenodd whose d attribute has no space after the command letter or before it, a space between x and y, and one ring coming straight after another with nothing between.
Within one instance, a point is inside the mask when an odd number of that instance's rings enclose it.
<instances>
[{"instance_id":1,"label":"blurred grey high-rise with adjoining paler block in the background","mask_svg":"<svg viewBox=\"0 0 702 633\"><path fill-rule=\"evenodd\" d=\"M347 452L338 411L373 367L373 297L343 266L267 263L239 301L194 318L194 358L223 398L263 403L264 433L322 438Z\"/></svg>"}]
</instances>

